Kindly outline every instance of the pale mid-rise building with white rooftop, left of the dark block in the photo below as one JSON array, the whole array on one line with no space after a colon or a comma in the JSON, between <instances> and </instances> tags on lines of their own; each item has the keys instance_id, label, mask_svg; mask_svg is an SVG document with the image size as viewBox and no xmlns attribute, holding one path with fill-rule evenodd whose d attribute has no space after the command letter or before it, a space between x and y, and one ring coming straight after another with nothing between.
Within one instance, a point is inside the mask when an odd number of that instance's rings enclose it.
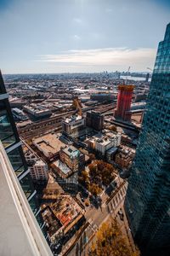
<instances>
[{"instance_id":1,"label":"pale mid-rise building with white rooftop, left of the dark block","mask_svg":"<svg viewBox=\"0 0 170 256\"><path fill-rule=\"evenodd\" d=\"M62 121L62 132L68 137L80 137L86 133L86 119L75 115Z\"/></svg>"}]
</instances>

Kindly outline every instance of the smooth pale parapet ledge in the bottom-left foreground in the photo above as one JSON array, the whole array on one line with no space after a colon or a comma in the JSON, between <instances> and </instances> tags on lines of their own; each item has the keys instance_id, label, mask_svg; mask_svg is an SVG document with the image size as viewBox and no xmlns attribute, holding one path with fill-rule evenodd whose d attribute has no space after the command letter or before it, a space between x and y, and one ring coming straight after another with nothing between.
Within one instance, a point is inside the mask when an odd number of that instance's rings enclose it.
<instances>
[{"instance_id":1,"label":"smooth pale parapet ledge in the bottom-left foreground","mask_svg":"<svg viewBox=\"0 0 170 256\"><path fill-rule=\"evenodd\" d=\"M52 256L1 142L0 188L0 255Z\"/></svg>"}]
</instances>

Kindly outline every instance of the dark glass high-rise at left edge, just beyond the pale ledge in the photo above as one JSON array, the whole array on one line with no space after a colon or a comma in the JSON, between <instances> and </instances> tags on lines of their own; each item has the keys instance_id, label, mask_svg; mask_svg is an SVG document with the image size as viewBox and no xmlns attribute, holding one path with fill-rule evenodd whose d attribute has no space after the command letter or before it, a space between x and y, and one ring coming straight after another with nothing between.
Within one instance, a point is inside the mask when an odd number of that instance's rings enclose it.
<instances>
[{"instance_id":1,"label":"dark glass high-rise at left edge, just beyond the pale ledge","mask_svg":"<svg viewBox=\"0 0 170 256\"><path fill-rule=\"evenodd\" d=\"M8 94L3 84L3 77L0 72L0 141L3 144L8 160L14 169L14 173L26 195L31 210L37 218L37 222L48 241L45 223L42 220L40 207L37 203L37 192L33 187L30 171L26 166L26 160L21 148L20 137L14 124L13 114L8 102Z\"/></svg>"}]
</instances>

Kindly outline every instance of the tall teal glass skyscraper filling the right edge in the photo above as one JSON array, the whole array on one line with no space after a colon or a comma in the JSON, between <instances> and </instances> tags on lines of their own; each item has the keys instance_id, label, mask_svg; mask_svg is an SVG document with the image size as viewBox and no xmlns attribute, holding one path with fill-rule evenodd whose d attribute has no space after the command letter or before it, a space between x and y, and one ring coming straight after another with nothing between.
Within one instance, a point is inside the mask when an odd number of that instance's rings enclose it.
<instances>
[{"instance_id":1,"label":"tall teal glass skyscraper filling the right edge","mask_svg":"<svg viewBox=\"0 0 170 256\"><path fill-rule=\"evenodd\" d=\"M145 255L170 255L170 24L160 42L125 201Z\"/></svg>"}]
</instances>

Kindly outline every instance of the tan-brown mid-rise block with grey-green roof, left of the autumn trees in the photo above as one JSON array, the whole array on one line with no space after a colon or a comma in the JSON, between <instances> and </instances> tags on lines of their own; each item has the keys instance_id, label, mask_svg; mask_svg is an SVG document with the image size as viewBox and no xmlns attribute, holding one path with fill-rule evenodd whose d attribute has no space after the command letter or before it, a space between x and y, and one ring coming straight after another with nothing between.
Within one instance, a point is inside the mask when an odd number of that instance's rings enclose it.
<instances>
[{"instance_id":1,"label":"tan-brown mid-rise block with grey-green roof, left of the autumn trees","mask_svg":"<svg viewBox=\"0 0 170 256\"><path fill-rule=\"evenodd\" d=\"M59 151L59 158L72 172L77 172L83 168L85 164L84 154L73 146L61 148Z\"/></svg>"}]
</instances>

